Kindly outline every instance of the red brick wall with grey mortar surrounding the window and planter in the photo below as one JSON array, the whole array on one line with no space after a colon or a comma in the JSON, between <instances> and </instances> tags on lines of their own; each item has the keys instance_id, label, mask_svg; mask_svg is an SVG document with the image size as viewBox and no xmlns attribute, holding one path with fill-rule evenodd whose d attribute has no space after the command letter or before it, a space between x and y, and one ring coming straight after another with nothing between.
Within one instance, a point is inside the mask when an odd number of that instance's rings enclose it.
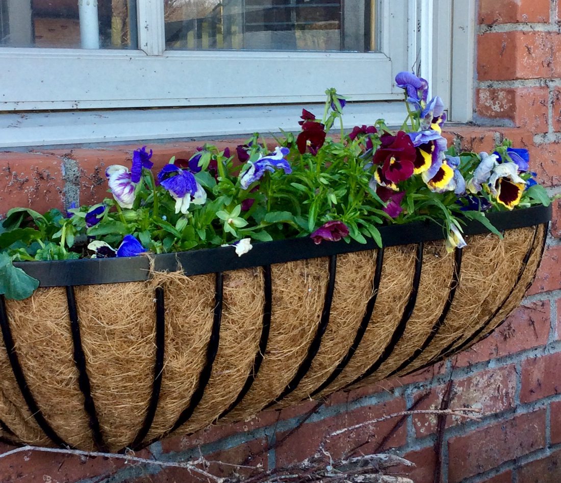
<instances>
[{"instance_id":1,"label":"red brick wall with grey mortar surrounding the window and planter","mask_svg":"<svg viewBox=\"0 0 561 483\"><path fill-rule=\"evenodd\" d=\"M449 125L448 139L482 151L511 138L530 149L540 181L552 194L561 193L561 2L480 0L478 8L474 119L480 126ZM164 163L173 154L187 155L194 145L160 145L155 157ZM97 200L106 190L105 166L122 163L133 148L0 154L0 212L15 204L64 207L78 196L81 203ZM151 454L174 461L196 458L201 451L208 459L272 468L312 455L319 441L338 429L416 402L417 409L438 408L453 380L450 407L480 408L482 418L448 420L440 457L444 483L561 481L560 217L558 201L539 275L522 306L472 349L413 376L335 394L318 408L306 402L168 439L151 446ZM417 464L413 480L432 483L436 439L435 417L416 414L343 433L327 448L334 457L362 443L364 452L397 448ZM211 470L224 475L229 467ZM32 453L0 459L0 480L163 483L194 477L185 470Z\"/></svg>"}]
</instances>

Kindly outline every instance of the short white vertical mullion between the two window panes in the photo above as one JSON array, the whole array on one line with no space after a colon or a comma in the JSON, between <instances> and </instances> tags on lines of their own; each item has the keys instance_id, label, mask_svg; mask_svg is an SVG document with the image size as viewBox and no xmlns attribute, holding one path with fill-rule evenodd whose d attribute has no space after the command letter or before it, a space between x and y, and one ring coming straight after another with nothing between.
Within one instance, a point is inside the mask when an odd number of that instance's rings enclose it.
<instances>
[{"instance_id":1,"label":"short white vertical mullion between the two window panes","mask_svg":"<svg viewBox=\"0 0 561 483\"><path fill-rule=\"evenodd\" d=\"M149 56L159 56L165 51L164 2L162 0L137 0L139 48Z\"/></svg>"}]
</instances>

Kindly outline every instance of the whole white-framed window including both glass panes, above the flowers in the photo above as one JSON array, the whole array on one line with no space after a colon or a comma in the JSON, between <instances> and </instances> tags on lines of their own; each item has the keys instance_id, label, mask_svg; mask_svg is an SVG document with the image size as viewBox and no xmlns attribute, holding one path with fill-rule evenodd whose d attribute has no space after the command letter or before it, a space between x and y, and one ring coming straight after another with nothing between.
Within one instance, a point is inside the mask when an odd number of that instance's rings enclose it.
<instances>
[{"instance_id":1,"label":"whole white-framed window including both glass panes, above the flowers","mask_svg":"<svg viewBox=\"0 0 561 483\"><path fill-rule=\"evenodd\" d=\"M78 3L0 0L0 146L293 129L331 86L353 101L350 126L398 122L393 78L419 62L449 101L453 18L474 2Z\"/></svg>"}]
</instances>

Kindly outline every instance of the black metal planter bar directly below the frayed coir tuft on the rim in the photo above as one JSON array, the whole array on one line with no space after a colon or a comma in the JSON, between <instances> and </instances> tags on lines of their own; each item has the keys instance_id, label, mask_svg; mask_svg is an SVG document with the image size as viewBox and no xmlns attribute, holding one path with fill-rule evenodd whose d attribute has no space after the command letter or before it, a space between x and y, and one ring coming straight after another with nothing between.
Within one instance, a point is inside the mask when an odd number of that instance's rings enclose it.
<instances>
[{"instance_id":1,"label":"black metal planter bar directly below the frayed coir tuft on the rim","mask_svg":"<svg viewBox=\"0 0 561 483\"><path fill-rule=\"evenodd\" d=\"M160 390L162 389L162 373L164 371L164 354L165 354L165 302L164 302L164 289L157 287L155 290L156 295L156 354L154 359L154 381L152 383L152 394L150 396L150 403L146 410L146 417L144 423L134 441L132 441L130 448L137 449L146 438L150 427L154 421L158 402L160 400Z\"/></svg>"}]
</instances>

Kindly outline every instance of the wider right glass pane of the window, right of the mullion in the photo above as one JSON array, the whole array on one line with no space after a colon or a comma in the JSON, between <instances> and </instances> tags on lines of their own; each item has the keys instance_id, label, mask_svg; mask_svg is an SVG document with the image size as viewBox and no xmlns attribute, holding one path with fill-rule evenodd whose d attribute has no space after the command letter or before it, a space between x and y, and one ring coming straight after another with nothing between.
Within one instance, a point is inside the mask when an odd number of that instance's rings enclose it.
<instances>
[{"instance_id":1,"label":"wider right glass pane of the window, right of the mullion","mask_svg":"<svg viewBox=\"0 0 561 483\"><path fill-rule=\"evenodd\" d=\"M163 0L166 49L374 51L378 0Z\"/></svg>"}]
</instances>

